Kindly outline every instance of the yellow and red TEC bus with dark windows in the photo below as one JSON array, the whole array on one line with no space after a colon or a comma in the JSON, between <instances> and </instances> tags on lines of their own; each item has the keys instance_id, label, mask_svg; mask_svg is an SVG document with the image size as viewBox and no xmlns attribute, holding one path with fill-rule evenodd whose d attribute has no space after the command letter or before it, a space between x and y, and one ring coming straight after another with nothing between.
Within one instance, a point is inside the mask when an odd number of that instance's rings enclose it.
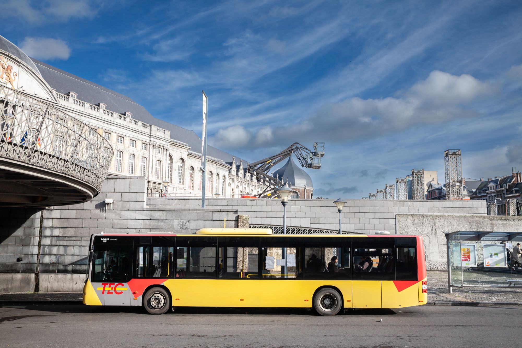
<instances>
[{"instance_id":1,"label":"yellow and red TEC bus with dark windows","mask_svg":"<svg viewBox=\"0 0 522 348\"><path fill-rule=\"evenodd\" d=\"M288 235L270 229L91 236L84 304L348 308L423 305L419 236Z\"/></svg>"}]
</instances>

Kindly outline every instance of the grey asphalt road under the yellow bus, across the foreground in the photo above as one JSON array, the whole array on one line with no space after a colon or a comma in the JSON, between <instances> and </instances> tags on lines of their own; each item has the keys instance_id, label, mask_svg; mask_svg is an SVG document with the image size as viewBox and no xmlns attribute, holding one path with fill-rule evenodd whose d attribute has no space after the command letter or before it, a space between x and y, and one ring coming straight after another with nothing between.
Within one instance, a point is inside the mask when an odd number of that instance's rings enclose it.
<instances>
[{"instance_id":1,"label":"grey asphalt road under the yellow bus, across the foreground","mask_svg":"<svg viewBox=\"0 0 522 348\"><path fill-rule=\"evenodd\" d=\"M382 322L379 321L382 319ZM0 347L519 347L522 307L301 309L0 305Z\"/></svg>"}]
</instances>

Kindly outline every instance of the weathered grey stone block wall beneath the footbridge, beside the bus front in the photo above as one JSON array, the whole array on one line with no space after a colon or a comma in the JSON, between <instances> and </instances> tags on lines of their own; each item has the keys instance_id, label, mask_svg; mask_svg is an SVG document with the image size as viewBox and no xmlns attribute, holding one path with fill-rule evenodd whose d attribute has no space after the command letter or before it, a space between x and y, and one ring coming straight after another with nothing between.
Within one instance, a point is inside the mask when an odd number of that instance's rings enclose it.
<instances>
[{"instance_id":1,"label":"weathered grey stone block wall beneath the footbridge, beside the bus front","mask_svg":"<svg viewBox=\"0 0 522 348\"><path fill-rule=\"evenodd\" d=\"M228 227L237 225L232 209L147 208L146 197L144 177L120 176L105 179L89 202L42 211L0 209L0 293L81 291L94 233L194 233L222 227L223 219ZM106 198L114 202L106 204Z\"/></svg>"}]
</instances>

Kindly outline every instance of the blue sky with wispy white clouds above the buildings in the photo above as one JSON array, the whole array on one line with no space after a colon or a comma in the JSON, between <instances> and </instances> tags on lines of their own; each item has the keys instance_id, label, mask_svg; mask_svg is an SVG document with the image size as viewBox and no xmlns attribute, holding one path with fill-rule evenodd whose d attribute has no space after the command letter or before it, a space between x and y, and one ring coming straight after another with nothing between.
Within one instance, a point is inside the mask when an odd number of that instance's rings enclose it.
<instances>
[{"instance_id":1,"label":"blue sky with wispy white clouds above the buildings","mask_svg":"<svg viewBox=\"0 0 522 348\"><path fill-rule=\"evenodd\" d=\"M4 0L2 35L255 161L326 142L315 196L367 197L462 150L466 177L522 170L517 1ZM81 96L79 96L81 99Z\"/></svg>"}]
</instances>

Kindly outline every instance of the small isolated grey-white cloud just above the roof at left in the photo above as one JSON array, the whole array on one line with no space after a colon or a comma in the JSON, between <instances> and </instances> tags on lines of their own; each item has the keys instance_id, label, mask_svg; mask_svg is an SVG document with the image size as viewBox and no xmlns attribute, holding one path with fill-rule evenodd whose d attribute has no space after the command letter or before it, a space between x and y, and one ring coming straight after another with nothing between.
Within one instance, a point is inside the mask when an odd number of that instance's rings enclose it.
<instances>
[{"instance_id":1,"label":"small isolated grey-white cloud just above the roof at left","mask_svg":"<svg viewBox=\"0 0 522 348\"><path fill-rule=\"evenodd\" d=\"M18 44L28 56L43 60L68 59L70 48L60 39L26 37Z\"/></svg>"}]
</instances>

